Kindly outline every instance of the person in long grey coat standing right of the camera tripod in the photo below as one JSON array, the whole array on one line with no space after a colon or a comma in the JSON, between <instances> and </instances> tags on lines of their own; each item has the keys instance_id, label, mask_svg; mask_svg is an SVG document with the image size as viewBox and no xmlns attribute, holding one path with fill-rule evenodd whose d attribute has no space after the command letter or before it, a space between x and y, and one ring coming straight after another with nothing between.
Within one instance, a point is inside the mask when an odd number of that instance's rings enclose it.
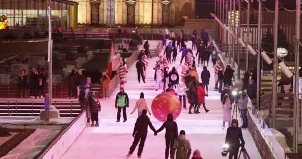
<instances>
[{"instance_id":1,"label":"person in long grey coat standing right of the camera tripod","mask_svg":"<svg viewBox=\"0 0 302 159\"><path fill-rule=\"evenodd\" d=\"M248 96L246 93L246 89L244 89L238 100L239 111L240 111L242 122L243 122L241 128L247 127L247 103L248 103Z\"/></svg>"}]
</instances>

